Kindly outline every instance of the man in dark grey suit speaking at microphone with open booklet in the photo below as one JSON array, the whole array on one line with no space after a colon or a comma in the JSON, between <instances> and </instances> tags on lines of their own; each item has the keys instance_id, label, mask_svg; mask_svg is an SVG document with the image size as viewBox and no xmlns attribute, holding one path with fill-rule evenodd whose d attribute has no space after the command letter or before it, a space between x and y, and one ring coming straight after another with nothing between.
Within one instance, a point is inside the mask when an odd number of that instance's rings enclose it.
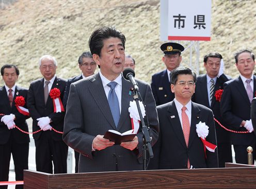
<instances>
[{"instance_id":1,"label":"man in dark grey suit speaking at microphone with open booklet","mask_svg":"<svg viewBox=\"0 0 256 189\"><path fill-rule=\"evenodd\" d=\"M132 129L128 109L130 101L133 101L130 93L133 85L121 74L125 59L125 37L115 27L103 27L92 33L89 47L100 71L71 84L63 140L81 153L79 173L141 170L141 129L133 141L122 142L120 145L103 138L109 129L121 133ZM155 101L150 85L140 80L137 82L142 98L140 100L146 105L145 122L147 124L148 120L151 144L154 145L159 129ZM115 86L110 86L113 83Z\"/></svg>"}]
</instances>

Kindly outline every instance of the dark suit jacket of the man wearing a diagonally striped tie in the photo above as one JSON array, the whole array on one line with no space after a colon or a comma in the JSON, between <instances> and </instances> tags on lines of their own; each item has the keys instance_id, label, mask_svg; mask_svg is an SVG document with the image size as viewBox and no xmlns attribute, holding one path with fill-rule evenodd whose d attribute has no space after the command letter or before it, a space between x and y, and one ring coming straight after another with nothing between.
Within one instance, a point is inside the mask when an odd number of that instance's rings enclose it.
<instances>
[{"instance_id":1,"label":"dark suit jacket of the man wearing a diagonally striped tie","mask_svg":"<svg viewBox=\"0 0 256 189\"><path fill-rule=\"evenodd\" d=\"M215 88L213 94L219 89L223 89L223 84L230 80L231 78L229 76L226 76L222 74L220 77L217 78L215 83ZM226 125L222 121L222 117L220 115L220 102L216 100L215 96L213 95L212 98L212 104L209 105L208 100L208 93L207 93L207 78L206 74L200 75L197 77L196 82L196 91L193 96L193 101L206 106L207 108L210 108L213 111L214 117L222 124ZM230 141L229 132L223 129L217 122L215 122L216 127L216 136L217 136L217 142L218 143L226 143L227 141Z\"/></svg>"}]
</instances>

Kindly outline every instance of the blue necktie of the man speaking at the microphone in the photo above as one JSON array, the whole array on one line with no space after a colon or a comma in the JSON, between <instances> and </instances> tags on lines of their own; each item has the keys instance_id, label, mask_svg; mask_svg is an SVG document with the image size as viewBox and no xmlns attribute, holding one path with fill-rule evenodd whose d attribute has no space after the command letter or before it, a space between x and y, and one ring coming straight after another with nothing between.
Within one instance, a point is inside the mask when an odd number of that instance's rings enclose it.
<instances>
[{"instance_id":1,"label":"blue necktie of the man speaking at the microphone","mask_svg":"<svg viewBox=\"0 0 256 189\"><path fill-rule=\"evenodd\" d=\"M115 125L117 127L119 118L120 118L119 102L118 102L117 94L115 92L115 87L117 85L117 82L111 81L107 85L110 88L107 100L108 100L108 104L109 104L112 116L114 118Z\"/></svg>"}]
</instances>

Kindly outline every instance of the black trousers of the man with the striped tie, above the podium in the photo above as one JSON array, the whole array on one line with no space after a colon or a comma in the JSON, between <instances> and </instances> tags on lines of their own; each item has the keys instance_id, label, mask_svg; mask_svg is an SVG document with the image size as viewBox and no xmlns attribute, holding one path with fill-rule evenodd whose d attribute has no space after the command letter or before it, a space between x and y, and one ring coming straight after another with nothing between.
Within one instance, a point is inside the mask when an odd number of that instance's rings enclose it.
<instances>
[{"instance_id":1,"label":"black trousers of the man with the striped tie, above the podium","mask_svg":"<svg viewBox=\"0 0 256 189\"><path fill-rule=\"evenodd\" d=\"M232 163L232 148L230 143L218 143L219 167L225 167L225 163Z\"/></svg>"}]
</instances>

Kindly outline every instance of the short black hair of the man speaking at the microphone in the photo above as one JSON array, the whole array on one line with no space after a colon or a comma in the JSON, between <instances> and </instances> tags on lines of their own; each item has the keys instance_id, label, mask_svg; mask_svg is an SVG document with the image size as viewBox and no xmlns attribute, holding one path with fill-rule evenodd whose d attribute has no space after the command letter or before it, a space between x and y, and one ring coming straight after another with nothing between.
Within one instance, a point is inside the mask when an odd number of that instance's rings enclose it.
<instances>
[{"instance_id":1,"label":"short black hair of the man speaking at the microphone","mask_svg":"<svg viewBox=\"0 0 256 189\"><path fill-rule=\"evenodd\" d=\"M101 49L103 48L103 40L108 38L119 38L122 41L123 48L125 49L125 36L121 31L117 30L114 26L102 27L94 30L89 39L89 47L91 54L101 56Z\"/></svg>"}]
</instances>

